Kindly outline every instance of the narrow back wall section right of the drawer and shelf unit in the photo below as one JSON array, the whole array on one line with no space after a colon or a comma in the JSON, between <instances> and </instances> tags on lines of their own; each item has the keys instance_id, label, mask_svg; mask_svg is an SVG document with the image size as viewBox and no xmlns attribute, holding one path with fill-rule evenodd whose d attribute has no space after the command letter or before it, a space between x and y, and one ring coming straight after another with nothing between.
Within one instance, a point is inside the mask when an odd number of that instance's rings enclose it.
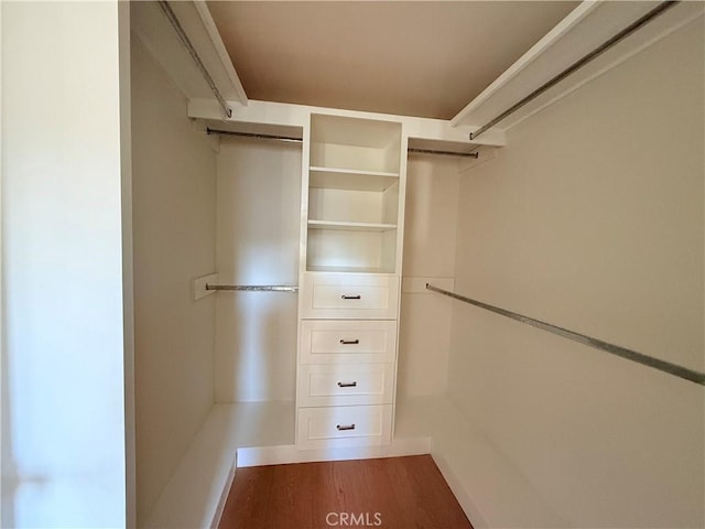
<instances>
[{"instance_id":1,"label":"narrow back wall section right of the drawer and shelf unit","mask_svg":"<svg viewBox=\"0 0 705 529\"><path fill-rule=\"evenodd\" d=\"M405 285L420 278L421 290L402 290L399 396L446 390L453 305L423 285L431 278L455 277L459 182L456 158L409 158L402 274Z\"/></svg>"}]
</instances>

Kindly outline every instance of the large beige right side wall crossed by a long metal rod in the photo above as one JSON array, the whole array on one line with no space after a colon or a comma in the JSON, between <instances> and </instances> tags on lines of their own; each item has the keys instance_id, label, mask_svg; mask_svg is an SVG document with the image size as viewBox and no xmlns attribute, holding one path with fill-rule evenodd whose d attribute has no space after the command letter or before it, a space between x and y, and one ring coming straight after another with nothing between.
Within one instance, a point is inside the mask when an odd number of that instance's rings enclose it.
<instances>
[{"instance_id":1,"label":"large beige right side wall crossed by a long metal rod","mask_svg":"<svg viewBox=\"0 0 705 529\"><path fill-rule=\"evenodd\" d=\"M456 290L703 370L703 51L701 18L511 130ZM571 526L705 525L702 387L459 303L452 334L454 400Z\"/></svg>"}]
</instances>

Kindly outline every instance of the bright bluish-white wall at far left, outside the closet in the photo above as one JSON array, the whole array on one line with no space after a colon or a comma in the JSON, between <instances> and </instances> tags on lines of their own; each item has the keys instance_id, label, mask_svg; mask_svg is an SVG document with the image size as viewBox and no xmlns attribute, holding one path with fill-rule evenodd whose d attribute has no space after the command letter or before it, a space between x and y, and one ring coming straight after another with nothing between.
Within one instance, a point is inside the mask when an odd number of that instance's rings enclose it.
<instances>
[{"instance_id":1,"label":"bright bluish-white wall at far left, outside the closet","mask_svg":"<svg viewBox=\"0 0 705 529\"><path fill-rule=\"evenodd\" d=\"M2 526L121 527L118 4L0 9Z\"/></svg>"}]
</instances>

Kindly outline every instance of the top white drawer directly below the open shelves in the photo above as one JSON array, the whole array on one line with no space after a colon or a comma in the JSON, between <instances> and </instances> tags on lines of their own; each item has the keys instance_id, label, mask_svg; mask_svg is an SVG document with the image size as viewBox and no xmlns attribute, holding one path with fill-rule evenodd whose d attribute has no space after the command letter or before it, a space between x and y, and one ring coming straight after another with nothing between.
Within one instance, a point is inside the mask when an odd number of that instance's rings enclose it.
<instances>
[{"instance_id":1,"label":"top white drawer directly below the open shelves","mask_svg":"<svg viewBox=\"0 0 705 529\"><path fill-rule=\"evenodd\" d=\"M304 274L304 319L397 319L399 278L361 273Z\"/></svg>"}]
</instances>

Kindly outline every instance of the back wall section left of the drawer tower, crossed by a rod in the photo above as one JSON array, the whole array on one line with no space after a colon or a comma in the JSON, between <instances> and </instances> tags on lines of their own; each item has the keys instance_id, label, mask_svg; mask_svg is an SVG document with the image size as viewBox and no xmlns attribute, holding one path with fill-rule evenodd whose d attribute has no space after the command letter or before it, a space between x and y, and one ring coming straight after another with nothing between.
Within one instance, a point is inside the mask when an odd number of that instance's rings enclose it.
<instances>
[{"instance_id":1,"label":"back wall section left of the drawer tower, crossed by a rod","mask_svg":"<svg viewBox=\"0 0 705 529\"><path fill-rule=\"evenodd\" d=\"M220 283L297 284L301 144L223 138L217 210ZM293 401L296 294L216 298L216 401Z\"/></svg>"}]
</instances>

